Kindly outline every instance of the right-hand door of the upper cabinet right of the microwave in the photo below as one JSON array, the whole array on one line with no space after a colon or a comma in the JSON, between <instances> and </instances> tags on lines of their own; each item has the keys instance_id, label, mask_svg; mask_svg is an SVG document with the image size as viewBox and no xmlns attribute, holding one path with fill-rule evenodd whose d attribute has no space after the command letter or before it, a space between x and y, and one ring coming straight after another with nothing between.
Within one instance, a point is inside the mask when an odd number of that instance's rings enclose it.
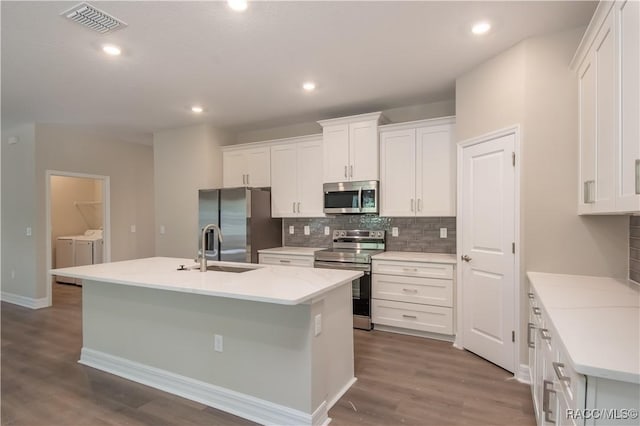
<instances>
[{"instance_id":1,"label":"right-hand door of the upper cabinet right of the microwave","mask_svg":"<svg viewBox=\"0 0 640 426\"><path fill-rule=\"evenodd\" d=\"M456 215L456 157L452 126L416 130L416 215Z\"/></svg>"}]
</instances>

